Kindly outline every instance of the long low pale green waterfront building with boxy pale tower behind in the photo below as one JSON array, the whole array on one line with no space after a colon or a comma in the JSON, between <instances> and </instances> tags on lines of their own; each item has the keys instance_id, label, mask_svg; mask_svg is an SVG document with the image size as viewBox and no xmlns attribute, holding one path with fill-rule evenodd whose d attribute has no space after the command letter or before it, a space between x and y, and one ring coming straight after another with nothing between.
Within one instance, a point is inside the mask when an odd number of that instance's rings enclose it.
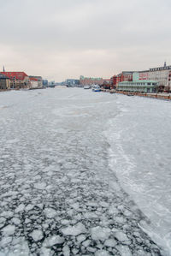
<instances>
[{"instance_id":1,"label":"long low pale green waterfront building with boxy pale tower behind","mask_svg":"<svg viewBox=\"0 0 171 256\"><path fill-rule=\"evenodd\" d=\"M157 85L156 80L140 80L139 72L133 72L133 80L119 82L117 90L123 92L156 92Z\"/></svg>"}]
</instances>

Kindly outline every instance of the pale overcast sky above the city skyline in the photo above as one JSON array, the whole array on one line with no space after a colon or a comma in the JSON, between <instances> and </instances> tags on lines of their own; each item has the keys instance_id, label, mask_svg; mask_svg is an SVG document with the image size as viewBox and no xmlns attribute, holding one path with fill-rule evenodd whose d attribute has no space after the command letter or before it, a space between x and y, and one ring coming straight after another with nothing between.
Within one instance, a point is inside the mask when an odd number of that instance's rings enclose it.
<instances>
[{"instance_id":1,"label":"pale overcast sky above the city skyline","mask_svg":"<svg viewBox=\"0 0 171 256\"><path fill-rule=\"evenodd\" d=\"M171 0L0 0L0 66L44 79L171 64Z\"/></svg>"}]
</instances>

